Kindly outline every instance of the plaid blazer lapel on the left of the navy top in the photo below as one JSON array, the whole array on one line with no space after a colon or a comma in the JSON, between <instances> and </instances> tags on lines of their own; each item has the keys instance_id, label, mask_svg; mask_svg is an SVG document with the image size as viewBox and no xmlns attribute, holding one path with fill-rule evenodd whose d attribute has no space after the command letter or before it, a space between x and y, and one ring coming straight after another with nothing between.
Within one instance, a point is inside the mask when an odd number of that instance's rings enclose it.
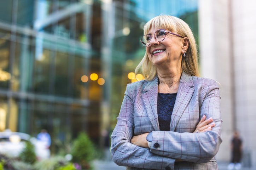
<instances>
[{"instance_id":1,"label":"plaid blazer lapel on the left of the navy top","mask_svg":"<svg viewBox=\"0 0 256 170\"><path fill-rule=\"evenodd\" d=\"M155 131L159 131L159 122L157 115L157 93L158 93L158 77L149 81L143 90L142 99L147 111L147 115Z\"/></svg>"}]
</instances>

